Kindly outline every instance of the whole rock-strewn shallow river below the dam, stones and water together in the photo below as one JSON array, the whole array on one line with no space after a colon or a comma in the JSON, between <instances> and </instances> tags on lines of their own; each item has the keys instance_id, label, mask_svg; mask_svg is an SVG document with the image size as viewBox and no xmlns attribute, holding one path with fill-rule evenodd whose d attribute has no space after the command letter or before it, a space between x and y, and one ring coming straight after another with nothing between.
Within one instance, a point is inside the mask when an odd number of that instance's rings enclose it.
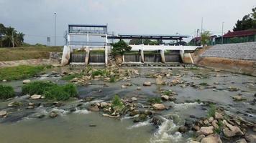
<instances>
[{"instance_id":1,"label":"whole rock-strewn shallow river below the dam, stones and water together","mask_svg":"<svg viewBox=\"0 0 256 143\"><path fill-rule=\"evenodd\" d=\"M63 80L66 79L66 80ZM22 95L35 80L78 85L79 98ZM1 142L255 142L256 77L194 66L63 67L2 82Z\"/></svg>"}]
</instances>

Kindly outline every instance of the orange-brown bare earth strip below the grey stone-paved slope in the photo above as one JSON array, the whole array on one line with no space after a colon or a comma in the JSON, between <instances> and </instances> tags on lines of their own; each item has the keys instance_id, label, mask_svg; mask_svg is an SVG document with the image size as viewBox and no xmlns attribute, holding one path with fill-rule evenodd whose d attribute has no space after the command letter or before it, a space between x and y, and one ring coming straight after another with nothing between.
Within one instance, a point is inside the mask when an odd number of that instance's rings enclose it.
<instances>
[{"instance_id":1,"label":"orange-brown bare earth strip below the grey stone-paved slope","mask_svg":"<svg viewBox=\"0 0 256 143\"><path fill-rule=\"evenodd\" d=\"M199 66L206 66L209 68L219 69L223 71L231 71L239 74L247 74L256 76L256 61L255 60L244 60L244 59L230 59L224 57L202 57L205 51L210 49L211 46L200 49L195 53L191 54L193 57L194 64Z\"/></svg>"}]
</instances>

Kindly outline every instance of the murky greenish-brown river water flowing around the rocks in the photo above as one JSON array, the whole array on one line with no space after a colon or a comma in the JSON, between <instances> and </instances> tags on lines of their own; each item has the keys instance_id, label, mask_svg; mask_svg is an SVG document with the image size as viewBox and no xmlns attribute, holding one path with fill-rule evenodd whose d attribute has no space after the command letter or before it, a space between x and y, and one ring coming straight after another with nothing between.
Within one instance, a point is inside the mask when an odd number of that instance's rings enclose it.
<instances>
[{"instance_id":1,"label":"murky greenish-brown river water flowing around the rocks","mask_svg":"<svg viewBox=\"0 0 256 143\"><path fill-rule=\"evenodd\" d=\"M126 69L126 68L124 68ZM154 83L155 79L148 77L149 74L168 71L167 68L138 68L141 76L131 78L127 82L105 83L102 81L92 81L92 85L78 87L81 97L96 97L90 103L83 103L81 107L76 105L80 101L66 102L64 107L37 107L36 109L22 109L11 112L10 118L0 119L0 139L4 143L20 142L187 142L191 134L180 134L178 127L182 126L186 120L191 120L190 116L206 117L204 104L195 102L196 100L204 102L215 102L224 107L230 114L236 114L240 117L256 121L256 107L251 104L255 99L256 77L248 77L241 74L232 74L229 72L216 72L210 69L204 70L184 70L173 68L173 76L181 75L183 84L173 87L159 86L152 84L150 87L143 87L143 82ZM62 69L55 69L62 70ZM196 76L206 78L197 79ZM217 76L216 76L217 75ZM52 80L63 84L60 77L39 77L33 80ZM172 81L174 77L165 79ZM132 87L121 89L121 85L132 83ZM195 89L186 84L193 82L198 85L206 82L209 85L216 86L212 88ZM214 84L219 82L219 84ZM21 81L9 82L17 93L20 92ZM107 86L106 86L107 85ZM137 87L142 87L140 91ZM228 87L237 87L238 92L229 92ZM178 93L176 102L164 102L165 106L171 108L156 112L163 119L160 127L155 127L150 123L150 119L145 122L134 123L132 117L122 117L122 119L109 119L102 117L101 112L88 112L86 106L93 102L109 101L114 94L129 99L137 97L138 102L144 104L148 97L159 97L161 91L171 89ZM99 92L101 91L101 92ZM247 101L234 102L232 96L242 94ZM17 100L17 99L16 99ZM0 108L5 109L9 102L1 102ZM75 112L69 112L70 107L76 107ZM58 112L59 117L50 119L44 117L37 119L40 114L49 114L51 111ZM192 119L193 120L193 119Z\"/></svg>"}]
</instances>

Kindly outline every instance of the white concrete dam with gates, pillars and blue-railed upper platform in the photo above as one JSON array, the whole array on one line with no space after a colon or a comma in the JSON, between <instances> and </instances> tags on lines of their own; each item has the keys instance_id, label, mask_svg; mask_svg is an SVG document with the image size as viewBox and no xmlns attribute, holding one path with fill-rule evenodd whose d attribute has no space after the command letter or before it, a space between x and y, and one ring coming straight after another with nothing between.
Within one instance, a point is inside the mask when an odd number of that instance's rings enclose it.
<instances>
[{"instance_id":1,"label":"white concrete dam with gates, pillars and blue-railed upper platform","mask_svg":"<svg viewBox=\"0 0 256 143\"><path fill-rule=\"evenodd\" d=\"M111 44L114 40L150 39L182 41L186 35L142 35L119 34L109 35L107 25L79 25L69 24L66 45L63 49L62 65L66 64L108 64ZM166 44L131 45L131 51L123 55L123 63L151 63L151 62L184 62L193 64L189 52L201 46L173 46Z\"/></svg>"}]
</instances>

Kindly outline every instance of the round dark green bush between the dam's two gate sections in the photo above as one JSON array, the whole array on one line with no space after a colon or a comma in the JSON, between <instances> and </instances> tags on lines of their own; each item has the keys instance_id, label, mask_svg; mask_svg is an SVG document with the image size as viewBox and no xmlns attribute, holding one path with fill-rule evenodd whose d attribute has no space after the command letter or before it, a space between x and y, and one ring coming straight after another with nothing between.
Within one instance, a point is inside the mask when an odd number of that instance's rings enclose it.
<instances>
[{"instance_id":1,"label":"round dark green bush between the dam's two gate sections","mask_svg":"<svg viewBox=\"0 0 256 143\"><path fill-rule=\"evenodd\" d=\"M127 51L131 51L132 47L125 43L124 40L120 40L117 43L111 44L113 46L112 54L114 55L124 55Z\"/></svg>"}]
</instances>

